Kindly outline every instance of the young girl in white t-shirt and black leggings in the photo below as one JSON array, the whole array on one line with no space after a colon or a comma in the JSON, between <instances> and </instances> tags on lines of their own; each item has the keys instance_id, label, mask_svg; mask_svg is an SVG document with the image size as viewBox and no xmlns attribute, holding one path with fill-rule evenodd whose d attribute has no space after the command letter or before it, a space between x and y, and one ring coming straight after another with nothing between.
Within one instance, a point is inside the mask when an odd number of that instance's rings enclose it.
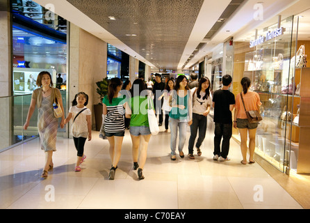
<instances>
[{"instance_id":1,"label":"young girl in white t-shirt and black leggings","mask_svg":"<svg viewBox=\"0 0 310 223\"><path fill-rule=\"evenodd\" d=\"M79 92L75 95L72 101L72 107L69 109L69 114L65 119L65 124L72 119L72 136L74 146L77 151L75 171L81 171L80 164L85 160L84 145L92 139L92 123L90 109L85 107L88 104L88 95L84 92Z\"/></svg>"}]
</instances>

